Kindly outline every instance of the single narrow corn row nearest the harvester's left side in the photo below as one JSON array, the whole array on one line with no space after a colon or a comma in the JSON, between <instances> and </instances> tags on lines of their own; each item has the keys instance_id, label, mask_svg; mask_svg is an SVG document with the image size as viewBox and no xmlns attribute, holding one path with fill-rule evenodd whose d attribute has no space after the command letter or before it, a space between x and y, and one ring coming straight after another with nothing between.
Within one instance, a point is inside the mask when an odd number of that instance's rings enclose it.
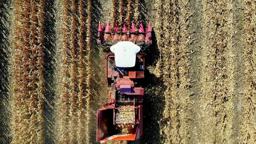
<instances>
[{"instance_id":1,"label":"single narrow corn row nearest the harvester's left side","mask_svg":"<svg viewBox=\"0 0 256 144\"><path fill-rule=\"evenodd\" d=\"M86 136L87 139L89 139L90 135L90 121L91 121L91 81L92 81L92 68L91 68L91 51L92 51L92 1L88 0L87 2L87 9L86 13L88 14L87 20L86 20L86 52L87 52L87 77L86 77ZM89 141L86 141L86 143L90 143Z\"/></svg>"}]
</instances>

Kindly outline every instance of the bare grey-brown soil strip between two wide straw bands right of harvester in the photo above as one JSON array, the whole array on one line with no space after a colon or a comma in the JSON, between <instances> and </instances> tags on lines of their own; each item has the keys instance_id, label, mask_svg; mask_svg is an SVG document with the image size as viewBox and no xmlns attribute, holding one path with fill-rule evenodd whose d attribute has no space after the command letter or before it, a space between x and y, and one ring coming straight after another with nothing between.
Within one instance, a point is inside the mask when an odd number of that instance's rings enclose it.
<instances>
[{"instance_id":1,"label":"bare grey-brown soil strip between two wide straw bands right of harvester","mask_svg":"<svg viewBox=\"0 0 256 144\"><path fill-rule=\"evenodd\" d=\"M202 3L199 0L190 1L191 11L193 16L189 25L189 33L191 36L191 44L189 45L191 60L191 67L189 70L189 76L191 79L190 88L190 101L193 107L191 107L191 121L190 121L190 135L189 139L191 142L198 144L201 136L201 125L200 122L200 76L201 76L201 46L200 41L202 39Z\"/></svg>"}]
</instances>

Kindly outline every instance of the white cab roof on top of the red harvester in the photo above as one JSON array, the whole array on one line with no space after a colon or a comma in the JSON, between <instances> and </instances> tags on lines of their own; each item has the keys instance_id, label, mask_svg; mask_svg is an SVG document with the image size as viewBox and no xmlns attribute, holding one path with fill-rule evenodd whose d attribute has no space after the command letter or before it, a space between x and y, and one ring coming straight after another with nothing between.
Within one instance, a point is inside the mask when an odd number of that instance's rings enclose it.
<instances>
[{"instance_id":1,"label":"white cab roof on top of the red harvester","mask_svg":"<svg viewBox=\"0 0 256 144\"><path fill-rule=\"evenodd\" d=\"M136 61L136 53L140 51L140 46L133 42L118 42L110 47L115 54L115 62L117 67L134 67Z\"/></svg>"}]
</instances>

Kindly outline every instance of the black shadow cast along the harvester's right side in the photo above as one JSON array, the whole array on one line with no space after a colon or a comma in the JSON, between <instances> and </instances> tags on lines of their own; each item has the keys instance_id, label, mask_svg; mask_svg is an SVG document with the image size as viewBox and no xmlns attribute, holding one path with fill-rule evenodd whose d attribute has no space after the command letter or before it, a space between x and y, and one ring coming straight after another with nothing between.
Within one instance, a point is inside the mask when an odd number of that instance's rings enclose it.
<instances>
[{"instance_id":1,"label":"black shadow cast along the harvester's right side","mask_svg":"<svg viewBox=\"0 0 256 144\"><path fill-rule=\"evenodd\" d=\"M156 66L160 52L158 51L156 36L152 30L152 45L145 50L146 67ZM140 144L160 144L160 125L158 121L163 116L165 106L164 90L165 85L161 77L156 77L155 74L145 69L144 98L143 98L143 135L139 139ZM128 142L131 144L133 142ZM136 143L136 142L134 142Z\"/></svg>"}]
</instances>

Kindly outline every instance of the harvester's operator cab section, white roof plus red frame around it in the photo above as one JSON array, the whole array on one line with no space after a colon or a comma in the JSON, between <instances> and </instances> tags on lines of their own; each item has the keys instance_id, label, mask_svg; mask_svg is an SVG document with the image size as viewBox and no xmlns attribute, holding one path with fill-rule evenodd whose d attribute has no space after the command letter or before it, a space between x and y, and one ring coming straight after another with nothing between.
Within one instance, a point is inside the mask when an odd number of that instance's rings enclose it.
<instances>
[{"instance_id":1,"label":"harvester's operator cab section, white roof plus red frame around it","mask_svg":"<svg viewBox=\"0 0 256 144\"><path fill-rule=\"evenodd\" d=\"M117 77L127 79L144 78L144 53L140 53L140 46L133 42L118 42L110 47L111 53L107 53L106 80L110 87Z\"/></svg>"}]
</instances>

